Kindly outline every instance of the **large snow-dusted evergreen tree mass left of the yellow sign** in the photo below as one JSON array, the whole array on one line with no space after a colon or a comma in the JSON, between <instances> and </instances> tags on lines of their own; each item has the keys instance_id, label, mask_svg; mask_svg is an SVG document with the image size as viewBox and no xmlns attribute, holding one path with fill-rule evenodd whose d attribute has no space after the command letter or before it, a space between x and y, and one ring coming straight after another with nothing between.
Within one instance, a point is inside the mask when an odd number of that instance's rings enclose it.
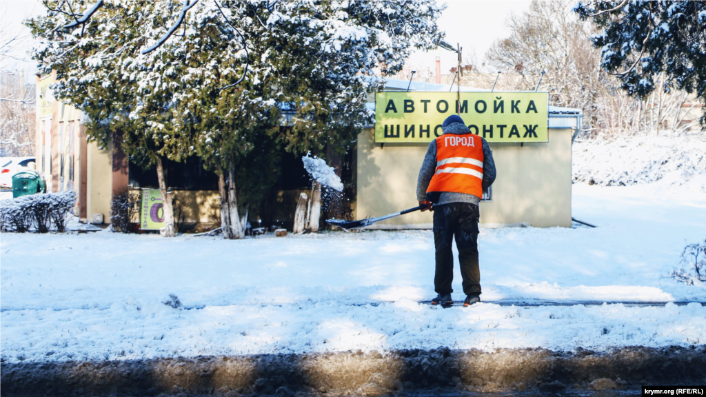
<instances>
[{"instance_id":1,"label":"large snow-dusted evergreen tree mass left of the yellow sign","mask_svg":"<svg viewBox=\"0 0 706 397\"><path fill-rule=\"evenodd\" d=\"M252 170L253 148L268 139L296 153L345 148L371 117L376 76L441 38L433 0L47 4L28 24L40 68L60 80L56 97L88 114L89 138L120 136L131 160L158 174L162 157L198 153L227 184L234 237L246 213L237 174L251 174L237 167ZM289 114L281 129L280 111Z\"/></svg>"}]
</instances>

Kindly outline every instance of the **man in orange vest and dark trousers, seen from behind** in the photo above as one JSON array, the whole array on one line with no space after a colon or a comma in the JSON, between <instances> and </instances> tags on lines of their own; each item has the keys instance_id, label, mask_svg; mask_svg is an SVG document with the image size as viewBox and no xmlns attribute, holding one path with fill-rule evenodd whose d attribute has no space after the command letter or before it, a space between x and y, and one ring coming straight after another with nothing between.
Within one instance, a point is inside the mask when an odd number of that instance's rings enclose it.
<instances>
[{"instance_id":1,"label":"man in orange vest and dark trousers, seen from behind","mask_svg":"<svg viewBox=\"0 0 706 397\"><path fill-rule=\"evenodd\" d=\"M478 263L479 203L483 191L495 181L493 153L481 136L472 134L461 117L444 120L443 134L429 143L417 181L421 211L433 203L436 272L432 304L448 307L453 282L452 240L455 237L461 265L464 306L480 302L481 274Z\"/></svg>"}]
</instances>

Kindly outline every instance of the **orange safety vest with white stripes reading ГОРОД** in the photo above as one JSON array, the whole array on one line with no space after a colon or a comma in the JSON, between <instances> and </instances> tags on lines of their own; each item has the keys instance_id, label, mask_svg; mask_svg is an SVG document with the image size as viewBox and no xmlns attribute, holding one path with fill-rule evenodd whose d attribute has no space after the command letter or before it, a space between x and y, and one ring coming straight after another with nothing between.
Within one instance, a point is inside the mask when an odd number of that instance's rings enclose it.
<instances>
[{"instance_id":1,"label":"orange safety vest with white stripes reading \u0413\u041e\u0420\u041e\u0414","mask_svg":"<svg viewBox=\"0 0 706 397\"><path fill-rule=\"evenodd\" d=\"M436 138L436 173L427 197L443 191L483 197L483 138L475 134L443 134Z\"/></svg>"}]
</instances>

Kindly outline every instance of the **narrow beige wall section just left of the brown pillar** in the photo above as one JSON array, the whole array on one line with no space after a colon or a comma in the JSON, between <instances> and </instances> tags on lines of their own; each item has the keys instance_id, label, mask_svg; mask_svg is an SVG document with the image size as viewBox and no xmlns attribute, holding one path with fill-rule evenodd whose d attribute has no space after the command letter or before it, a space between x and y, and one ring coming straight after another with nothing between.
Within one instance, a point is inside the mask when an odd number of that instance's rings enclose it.
<instances>
[{"instance_id":1,"label":"narrow beige wall section just left of the brown pillar","mask_svg":"<svg viewBox=\"0 0 706 397\"><path fill-rule=\"evenodd\" d=\"M98 148L97 143L88 143L87 162L87 208L88 220L93 214L102 213L105 223L110 223L110 201L113 191L112 148Z\"/></svg>"}]
</instances>

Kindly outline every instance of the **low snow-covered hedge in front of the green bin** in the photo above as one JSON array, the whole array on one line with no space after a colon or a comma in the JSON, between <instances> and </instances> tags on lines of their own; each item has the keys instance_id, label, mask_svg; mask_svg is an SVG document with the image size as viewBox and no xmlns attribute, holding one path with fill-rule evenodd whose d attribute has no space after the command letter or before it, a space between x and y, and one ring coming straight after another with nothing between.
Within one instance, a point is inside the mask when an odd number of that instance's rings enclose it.
<instances>
[{"instance_id":1,"label":"low snow-covered hedge in front of the green bin","mask_svg":"<svg viewBox=\"0 0 706 397\"><path fill-rule=\"evenodd\" d=\"M76 192L32 194L0 200L0 232L46 233L52 228L66 230L68 211L76 205Z\"/></svg>"}]
</instances>

